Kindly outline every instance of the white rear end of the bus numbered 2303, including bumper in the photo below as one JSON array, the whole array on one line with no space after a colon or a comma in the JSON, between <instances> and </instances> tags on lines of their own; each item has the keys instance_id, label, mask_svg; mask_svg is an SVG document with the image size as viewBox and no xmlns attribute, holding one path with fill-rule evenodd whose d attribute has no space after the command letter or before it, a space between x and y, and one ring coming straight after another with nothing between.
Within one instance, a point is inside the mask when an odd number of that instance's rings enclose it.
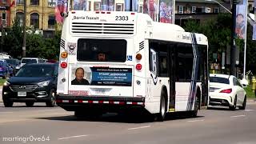
<instances>
[{"instance_id":1,"label":"white rear end of the bus numbered 2303, including bumper","mask_svg":"<svg viewBox=\"0 0 256 144\"><path fill-rule=\"evenodd\" d=\"M132 12L70 12L62 26L58 106L69 111L144 107L145 71L134 50L136 18Z\"/></svg>"}]
</instances>

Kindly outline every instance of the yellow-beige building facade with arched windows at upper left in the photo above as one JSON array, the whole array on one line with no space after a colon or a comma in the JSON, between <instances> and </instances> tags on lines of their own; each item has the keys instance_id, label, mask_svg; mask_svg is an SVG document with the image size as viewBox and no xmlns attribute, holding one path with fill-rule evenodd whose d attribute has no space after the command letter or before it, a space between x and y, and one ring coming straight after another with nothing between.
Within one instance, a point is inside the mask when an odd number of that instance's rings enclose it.
<instances>
[{"instance_id":1,"label":"yellow-beige building facade with arched windows at upper left","mask_svg":"<svg viewBox=\"0 0 256 144\"><path fill-rule=\"evenodd\" d=\"M52 33L55 30L55 0L26 0L26 26L43 33ZM16 5L11 7L11 24L17 18L20 25L24 19L24 0L16 0Z\"/></svg>"}]
</instances>

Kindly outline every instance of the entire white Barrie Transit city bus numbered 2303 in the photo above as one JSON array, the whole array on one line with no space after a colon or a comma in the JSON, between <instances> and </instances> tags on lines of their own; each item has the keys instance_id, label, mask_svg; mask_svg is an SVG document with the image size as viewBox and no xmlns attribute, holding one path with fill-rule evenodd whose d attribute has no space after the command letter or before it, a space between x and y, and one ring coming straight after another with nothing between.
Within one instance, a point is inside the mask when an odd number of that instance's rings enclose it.
<instances>
[{"instance_id":1,"label":"entire white Barrie Transit city bus numbered 2303","mask_svg":"<svg viewBox=\"0 0 256 144\"><path fill-rule=\"evenodd\" d=\"M59 62L56 102L77 117L138 108L163 120L207 102L206 36L147 14L70 11Z\"/></svg>"}]
</instances>

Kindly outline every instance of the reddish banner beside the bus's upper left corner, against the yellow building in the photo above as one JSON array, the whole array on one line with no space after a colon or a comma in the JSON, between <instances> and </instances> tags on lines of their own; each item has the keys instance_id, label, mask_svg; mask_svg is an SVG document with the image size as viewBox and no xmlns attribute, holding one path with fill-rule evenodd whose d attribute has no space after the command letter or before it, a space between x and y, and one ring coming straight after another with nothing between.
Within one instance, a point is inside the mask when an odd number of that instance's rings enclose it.
<instances>
[{"instance_id":1,"label":"reddish banner beside the bus's upper left corner, against the yellow building","mask_svg":"<svg viewBox=\"0 0 256 144\"><path fill-rule=\"evenodd\" d=\"M67 0L57 0L55 6L55 19L57 23L63 22L61 14L67 12Z\"/></svg>"}]
</instances>

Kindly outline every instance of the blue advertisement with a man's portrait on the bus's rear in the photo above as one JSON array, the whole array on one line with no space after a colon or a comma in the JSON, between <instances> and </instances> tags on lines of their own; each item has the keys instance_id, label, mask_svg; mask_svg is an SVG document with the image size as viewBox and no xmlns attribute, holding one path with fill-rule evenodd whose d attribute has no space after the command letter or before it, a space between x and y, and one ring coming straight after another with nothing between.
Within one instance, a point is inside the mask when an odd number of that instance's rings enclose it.
<instances>
[{"instance_id":1,"label":"blue advertisement with a man's portrait on the bus's rear","mask_svg":"<svg viewBox=\"0 0 256 144\"><path fill-rule=\"evenodd\" d=\"M131 86L132 69L75 66L71 85Z\"/></svg>"}]
</instances>

